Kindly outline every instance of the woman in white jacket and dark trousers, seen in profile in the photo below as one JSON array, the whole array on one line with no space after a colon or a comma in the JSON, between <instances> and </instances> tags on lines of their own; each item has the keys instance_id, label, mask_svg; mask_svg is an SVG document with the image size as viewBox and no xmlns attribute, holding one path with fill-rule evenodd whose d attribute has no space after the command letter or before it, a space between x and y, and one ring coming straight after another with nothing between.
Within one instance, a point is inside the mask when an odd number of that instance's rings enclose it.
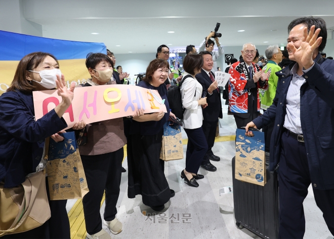
<instances>
[{"instance_id":1,"label":"woman in white jacket and dark trousers, seen in profile","mask_svg":"<svg viewBox=\"0 0 334 239\"><path fill-rule=\"evenodd\" d=\"M207 106L206 97L202 98L202 85L195 75L200 73L203 57L200 54L187 54L183 61L185 71L181 84L183 113L183 128L188 136L186 153L186 168L181 172L181 178L191 187L198 187L196 180L203 178L197 174L201 161L207 151L207 142L202 130L202 107Z\"/></svg>"}]
</instances>

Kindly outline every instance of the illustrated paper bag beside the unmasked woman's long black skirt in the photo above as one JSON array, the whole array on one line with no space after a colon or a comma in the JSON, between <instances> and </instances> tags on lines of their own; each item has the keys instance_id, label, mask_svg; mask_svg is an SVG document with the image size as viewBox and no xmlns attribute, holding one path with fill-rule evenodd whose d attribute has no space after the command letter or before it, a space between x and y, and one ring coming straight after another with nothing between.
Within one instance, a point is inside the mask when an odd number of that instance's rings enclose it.
<instances>
[{"instance_id":1,"label":"illustrated paper bag beside the unmasked woman's long black skirt","mask_svg":"<svg viewBox=\"0 0 334 239\"><path fill-rule=\"evenodd\" d=\"M163 126L160 158L164 161L183 159L181 126L166 122Z\"/></svg>"}]
</instances>

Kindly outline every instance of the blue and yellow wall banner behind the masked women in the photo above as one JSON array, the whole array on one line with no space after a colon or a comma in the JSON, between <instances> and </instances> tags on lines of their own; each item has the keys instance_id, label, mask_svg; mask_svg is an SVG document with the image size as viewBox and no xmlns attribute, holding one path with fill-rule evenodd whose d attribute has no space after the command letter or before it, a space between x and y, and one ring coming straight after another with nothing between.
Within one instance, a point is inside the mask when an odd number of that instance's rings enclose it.
<instances>
[{"instance_id":1,"label":"blue and yellow wall banner behind the masked women","mask_svg":"<svg viewBox=\"0 0 334 239\"><path fill-rule=\"evenodd\" d=\"M72 81L81 84L90 78L85 65L88 53L107 53L104 43L57 40L0 31L0 95L11 85L20 59L35 51L56 56L68 87Z\"/></svg>"}]
</instances>

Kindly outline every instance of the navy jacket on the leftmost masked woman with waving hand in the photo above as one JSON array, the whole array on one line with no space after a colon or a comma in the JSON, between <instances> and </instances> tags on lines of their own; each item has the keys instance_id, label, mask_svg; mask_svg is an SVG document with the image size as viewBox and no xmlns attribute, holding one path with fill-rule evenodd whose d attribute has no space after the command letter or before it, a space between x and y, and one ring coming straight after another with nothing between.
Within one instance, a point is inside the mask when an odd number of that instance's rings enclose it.
<instances>
[{"instance_id":1,"label":"navy jacket on the leftmost masked woman with waving hand","mask_svg":"<svg viewBox=\"0 0 334 239\"><path fill-rule=\"evenodd\" d=\"M13 188L36 171L45 139L67 124L54 109L35 121L32 93L5 92L0 106L0 181Z\"/></svg>"}]
</instances>

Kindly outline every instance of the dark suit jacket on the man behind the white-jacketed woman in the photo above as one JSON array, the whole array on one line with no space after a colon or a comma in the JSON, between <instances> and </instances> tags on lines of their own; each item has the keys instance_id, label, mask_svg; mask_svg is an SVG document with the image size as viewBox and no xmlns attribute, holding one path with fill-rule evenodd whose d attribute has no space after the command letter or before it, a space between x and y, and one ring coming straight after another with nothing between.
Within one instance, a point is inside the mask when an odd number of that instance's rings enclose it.
<instances>
[{"instance_id":1,"label":"dark suit jacket on the man behind the white-jacketed woman","mask_svg":"<svg viewBox=\"0 0 334 239\"><path fill-rule=\"evenodd\" d=\"M211 72L215 77L215 73ZM206 92L206 102L207 106L202 109L203 120L207 122L216 122L218 118L223 118L222 111L222 100L220 98L220 89L214 90L212 95L207 93L207 89L212 84L212 80L206 74L206 72L201 69L200 73L196 74L197 81L202 85L203 92Z\"/></svg>"}]
</instances>

